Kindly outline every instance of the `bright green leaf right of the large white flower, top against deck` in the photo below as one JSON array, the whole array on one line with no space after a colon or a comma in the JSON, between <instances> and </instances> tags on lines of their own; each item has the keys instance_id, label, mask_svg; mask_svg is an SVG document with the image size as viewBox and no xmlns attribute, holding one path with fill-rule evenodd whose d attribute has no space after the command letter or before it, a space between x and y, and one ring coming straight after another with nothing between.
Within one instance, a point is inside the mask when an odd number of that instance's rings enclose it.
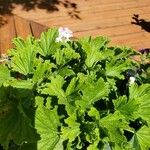
<instances>
[{"instance_id":1,"label":"bright green leaf right of the large white flower, top against deck","mask_svg":"<svg viewBox=\"0 0 150 150\"><path fill-rule=\"evenodd\" d=\"M80 43L82 45L82 49L86 53L85 64L89 68L95 66L95 64L98 61L105 58L100 49L103 48L108 43L108 40L106 38L103 37L97 37L94 39L92 39L91 37L82 38L80 40Z\"/></svg>"}]
</instances>

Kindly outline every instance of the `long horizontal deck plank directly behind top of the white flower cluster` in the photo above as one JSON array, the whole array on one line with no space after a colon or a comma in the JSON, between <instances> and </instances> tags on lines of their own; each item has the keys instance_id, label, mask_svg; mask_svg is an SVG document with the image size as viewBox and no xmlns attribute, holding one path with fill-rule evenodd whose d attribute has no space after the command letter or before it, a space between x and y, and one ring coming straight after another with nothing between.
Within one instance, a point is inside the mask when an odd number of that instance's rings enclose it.
<instances>
[{"instance_id":1,"label":"long horizontal deck plank directly behind top of the white flower cluster","mask_svg":"<svg viewBox=\"0 0 150 150\"><path fill-rule=\"evenodd\" d=\"M143 15L146 17L147 15ZM148 15L150 16L150 15ZM143 18L143 17L142 17ZM51 27L60 27L60 26L67 26L70 28L73 32L80 32L80 31L87 31L87 30L93 30L93 29L102 29L102 28L108 28L108 27L114 27L114 26L122 26L122 25L129 25L131 24L132 17L116 17L116 18L110 18L110 19L89 19L89 21L72 21L72 23L68 22L58 22L57 24L53 24L51 22L47 22L44 25L48 25ZM136 25L134 25L136 26Z\"/></svg>"}]
</instances>

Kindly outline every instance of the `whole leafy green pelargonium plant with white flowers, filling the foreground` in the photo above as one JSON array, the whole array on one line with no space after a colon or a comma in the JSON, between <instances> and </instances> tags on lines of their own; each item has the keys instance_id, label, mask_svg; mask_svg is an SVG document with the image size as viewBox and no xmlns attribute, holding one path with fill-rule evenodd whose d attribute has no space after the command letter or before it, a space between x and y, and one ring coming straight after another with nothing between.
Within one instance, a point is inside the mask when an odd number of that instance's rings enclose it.
<instances>
[{"instance_id":1,"label":"whole leafy green pelargonium plant with white flowers, filling the foreground","mask_svg":"<svg viewBox=\"0 0 150 150\"><path fill-rule=\"evenodd\" d=\"M149 150L149 54L70 37L49 29L13 40L0 64L3 149Z\"/></svg>"}]
</instances>

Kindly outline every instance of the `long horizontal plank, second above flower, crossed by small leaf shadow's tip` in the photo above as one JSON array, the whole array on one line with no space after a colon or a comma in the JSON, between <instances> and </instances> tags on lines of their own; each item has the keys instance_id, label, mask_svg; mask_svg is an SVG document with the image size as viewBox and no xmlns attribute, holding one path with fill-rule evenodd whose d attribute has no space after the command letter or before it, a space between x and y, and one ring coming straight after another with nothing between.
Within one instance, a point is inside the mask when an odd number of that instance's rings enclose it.
<instances>
[{"instance_id":1,"label":"long horizontal plank, second above flower, crossed by small leaf shadow's tip","mask_svg":"<svg viewBox=\"0 0 150 150\"><path fill-rule=\"evenodd\" d=\"M150 6L145 6L142 8L124 8L124 9L120 9L120 10L114 10L114 11L101 11L101 8L99 8L98 10L93 7L93 9L89 10L89 11L85 11L85 12L81 12L79 15L79 17L81 18L81 20L78 19L71 19L69 15L62 13L59 16L51 16L50 15L48 17L40 17L36 20L36 22L40 22L40 23L46 23L46 22L50 22L52 24L58 24L59 22L64 23L76 23L76 22L82 22L82 21L92 21L92 20L103 20L105 21L105 19L111 19L111 18L116 18L116 17L132 17L133 14L150 14Z\"/></svg>"}]
</instances>

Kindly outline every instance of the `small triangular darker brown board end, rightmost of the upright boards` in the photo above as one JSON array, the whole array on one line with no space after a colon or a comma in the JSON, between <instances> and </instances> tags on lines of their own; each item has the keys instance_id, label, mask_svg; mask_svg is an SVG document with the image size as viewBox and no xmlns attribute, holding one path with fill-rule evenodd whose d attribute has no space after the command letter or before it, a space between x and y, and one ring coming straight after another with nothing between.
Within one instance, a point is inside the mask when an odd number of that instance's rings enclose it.
<instances>
[{"instance_id":1,"label":"small triangular darker brown board end, rightmost of the upright boards","mask_svg":"<svg viewBox=\"0 0 150 150\"><path fill-rule=\"evenodd\" d=\"M31 24L31 31L32 31L32 34L33 34L33 36L36 37L36 38L39 38L40 35L41 35L41 33L42 33L43 31L46 31L46 30L48 29L48 27L46 27L46 26L44 26L44 25L41 25L41 24L39 24L39 23L33 22L33 21L31 21L30 24Z\"/></svg>"}]
</instances>

